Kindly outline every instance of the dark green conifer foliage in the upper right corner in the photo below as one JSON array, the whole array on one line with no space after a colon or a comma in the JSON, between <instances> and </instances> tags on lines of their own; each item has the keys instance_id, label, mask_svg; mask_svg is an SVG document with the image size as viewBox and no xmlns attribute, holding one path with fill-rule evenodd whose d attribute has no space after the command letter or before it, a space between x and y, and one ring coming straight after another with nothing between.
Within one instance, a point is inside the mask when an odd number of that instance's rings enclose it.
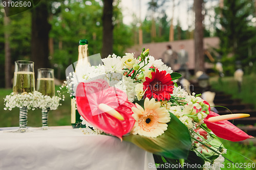
<instances>
[{"instance_id":1,"label":"dark green conifer foliage in the upper right corner","mask_svg":"<svg viewBox=\"0 0 256 170\"><path fill-rule=\"evenodd\" d=\"M253 7L249 0L226 0L222 10L216 9L217 13L222 13L222 28L217 29L217 36L220 38L217 52L222 56L224 70L230 73L233 73L237 60L241 60L244 67L248 66L249 61L256 61L256 30L250 19L254 15Z\"/></svg>"}]
</instances>

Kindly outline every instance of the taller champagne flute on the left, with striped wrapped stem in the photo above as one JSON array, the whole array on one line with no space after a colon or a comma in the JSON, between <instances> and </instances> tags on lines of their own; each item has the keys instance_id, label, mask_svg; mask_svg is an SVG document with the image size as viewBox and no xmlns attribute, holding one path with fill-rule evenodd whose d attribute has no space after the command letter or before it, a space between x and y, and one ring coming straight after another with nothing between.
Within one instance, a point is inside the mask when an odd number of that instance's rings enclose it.
<instances>
[{"instance_id":1,"label":"taller champagne flute on the left, with striped wrapped stem","mask_svg":"<svg viewBox=\"0 0 256 170\"><path fill-rule=\"evenodd\" d=\"M34 62L15 61L13 92L15 94L33 93L35 90ZM19 108L19 129L18 133L28 132L28 108Z\"/></svg>"}]
</instances>

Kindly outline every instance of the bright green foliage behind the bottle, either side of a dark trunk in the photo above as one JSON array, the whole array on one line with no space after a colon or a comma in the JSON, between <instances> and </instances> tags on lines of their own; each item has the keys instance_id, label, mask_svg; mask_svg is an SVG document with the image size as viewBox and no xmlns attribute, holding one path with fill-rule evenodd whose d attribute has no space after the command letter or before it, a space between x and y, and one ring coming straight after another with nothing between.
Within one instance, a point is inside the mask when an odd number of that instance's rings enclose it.
<instances>
[{"instance_id":1,"label":"bright green foliage behind the bottle, either side of a dark trunk","mask_svg":"<svg viewBox=\"0 0 256 170\"><path fill-rule=\"evenodd\" d=\"M66 3L68 2L68 3ZM131 29L122 23L122 13L118 2L113 8L114 49L116 55L122 55L126 47L132 45ZM102 3L99 1L65 1L53 5L52 30L54 56L52 64L65 75L65 68L77 61L78 41L89 41L89 55L101 53L102 47ZM58 44L62 43L62 47ZM104 56L108 57L108 56ZM64 60L63 60L64 59ZM62 76L62 79L65 79Z\"/></svg>"}]
</instances>

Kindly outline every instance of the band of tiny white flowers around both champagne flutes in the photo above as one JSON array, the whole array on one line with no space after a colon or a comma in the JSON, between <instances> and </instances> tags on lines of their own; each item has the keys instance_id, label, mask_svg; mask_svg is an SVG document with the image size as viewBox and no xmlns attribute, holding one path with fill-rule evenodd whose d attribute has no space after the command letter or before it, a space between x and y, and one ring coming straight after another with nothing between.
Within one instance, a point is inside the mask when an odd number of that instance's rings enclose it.
<instances>
[{"instance_id":1,"label":"band of tiny white flowers around both champagne flutes","mask_svg":"<svg viewBox=\"0 0 256 170\"><path fill-rule=\"evenodd\" d=\"M35 110L35 108L56 110L59 104L60 98L58 96L44 96L38 91L33 93L24 92L22 94L15 94L12 92L10 95L7 95L4 99L5 108L4 110L12 110L15 107L23 108L27 107L28 109Z\"/></svg>"}]
</instances>

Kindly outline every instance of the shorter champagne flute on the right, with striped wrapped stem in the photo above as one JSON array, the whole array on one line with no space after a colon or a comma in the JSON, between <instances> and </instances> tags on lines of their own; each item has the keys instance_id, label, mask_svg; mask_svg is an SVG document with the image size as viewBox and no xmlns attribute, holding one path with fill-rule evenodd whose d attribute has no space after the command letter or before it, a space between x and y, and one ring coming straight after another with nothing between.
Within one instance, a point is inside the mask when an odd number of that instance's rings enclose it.
<instances>
[{"instance_id":1,"label":"shorter champagne flute on the right, with striped wrapped stem","mask_svg":"<svg viewBox=\"0 0 256 170\"><path fill-rule=\"evenodd\" d=\"M54 70L39 68L37 74L36 90L50 97L55 95ZM42 109L42 130L48 130L48 112L50 108Z\"/></svg>"}]
</instances>

